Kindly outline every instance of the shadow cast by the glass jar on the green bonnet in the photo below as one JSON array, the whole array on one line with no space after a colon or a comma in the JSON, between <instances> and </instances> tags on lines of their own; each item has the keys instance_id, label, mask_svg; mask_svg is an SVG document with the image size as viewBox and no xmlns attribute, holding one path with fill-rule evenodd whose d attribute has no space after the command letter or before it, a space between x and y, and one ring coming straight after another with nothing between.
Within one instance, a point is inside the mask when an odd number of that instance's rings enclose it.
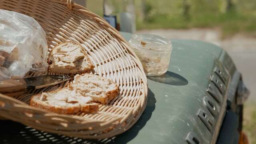
<instances>
[{"instance_id":1,"label":"shadow cast by the glass jar on the green bonnet","mask_svg":"<svg viewBox=\"0 0 256 144\"><path fill-rule=\"evenodd\" d=\"M174 86L185 86L188 84L188 80L186 78L170 71L167 71L161 76L147 76L147 78L155 82Z\"/></svg>"}]
</instances>

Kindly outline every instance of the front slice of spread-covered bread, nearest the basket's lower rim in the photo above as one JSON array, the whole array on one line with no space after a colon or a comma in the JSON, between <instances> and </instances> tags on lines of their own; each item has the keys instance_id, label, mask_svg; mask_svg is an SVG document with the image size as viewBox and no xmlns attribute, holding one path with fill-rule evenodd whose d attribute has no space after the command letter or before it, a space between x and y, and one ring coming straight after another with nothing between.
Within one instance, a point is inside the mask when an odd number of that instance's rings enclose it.
<instances>
[{"instance_id":1,"label":"front slice of spread-covered bread, nearest the basket's lower rim","mask_svg":"<svg viewBox=\"0 0 256 144\"><path fill-rule=\"evenodd\" d=\"M67 88L54 91L43 92L33 96L30 105L58 114L75 114L77 112L96 112L97 103L92 102L91 97L82 96L77 90L68 90Z\"/></svg>"}]
</instances>

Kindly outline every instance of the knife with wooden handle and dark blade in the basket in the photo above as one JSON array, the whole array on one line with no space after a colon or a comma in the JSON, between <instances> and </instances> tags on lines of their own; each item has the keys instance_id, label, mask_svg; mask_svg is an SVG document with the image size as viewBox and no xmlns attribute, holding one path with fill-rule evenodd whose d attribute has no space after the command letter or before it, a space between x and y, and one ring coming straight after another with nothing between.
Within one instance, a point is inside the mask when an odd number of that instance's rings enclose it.
<instances>
[{"instance_id":1,"label":"knife with wooden handle and dark blade in the basket","mask_svg":"<svg viewBox=\"0 0 256 144\"><path fill-rule=\"evenodd\" d=\"M42 75L30 78L20 78L13 76L8 80L0 80L0 93L7 96L17 96L25 92L26 89L39 89L52 86L70 80L69 76Z\"/></svg>"}]
</instances>

